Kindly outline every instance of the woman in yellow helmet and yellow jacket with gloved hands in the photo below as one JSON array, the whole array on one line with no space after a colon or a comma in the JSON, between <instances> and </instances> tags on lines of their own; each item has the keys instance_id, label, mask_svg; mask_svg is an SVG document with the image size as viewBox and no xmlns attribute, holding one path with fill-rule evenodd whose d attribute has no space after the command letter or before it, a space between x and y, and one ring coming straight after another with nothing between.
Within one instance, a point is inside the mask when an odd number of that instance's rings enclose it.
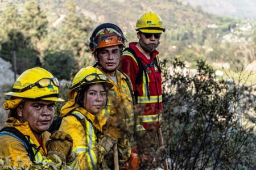
<instances>
[{"instance_id":1,"label":"woman in yellow helmet and yellow jacket with gloved hands","mask_svg":"<svg viewBox=\"0 0 256 170\"><path fill-rule=\"evenodd\" d=\"M80 169L99 169L110 148L122 138L116 121L105 114L108 91L113 87L101 71L92 66L82 68L74 77L69 101L61 108L63 120L59 130L73 138L73 151Z\"/></svg>"}]
</instances>

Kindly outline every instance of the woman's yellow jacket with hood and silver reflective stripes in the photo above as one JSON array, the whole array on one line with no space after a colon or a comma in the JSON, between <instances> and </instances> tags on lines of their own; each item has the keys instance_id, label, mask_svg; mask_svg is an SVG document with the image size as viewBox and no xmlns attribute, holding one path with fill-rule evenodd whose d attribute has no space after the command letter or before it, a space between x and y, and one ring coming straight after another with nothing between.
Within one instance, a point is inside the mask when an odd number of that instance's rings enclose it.
<instances>
[{"instance_id":1,"label":"woman's yellow jacket with hood and silver reflective stripes","mask_svg":"<svg viewBox=\"0 0 256 170\"><path fill-rule=\"evenodd\" d=\"M100 113L97 117L81 107L72 107L66 103L61 109L63 117L59 130L65 131L73 139L73 151L79 159L80 169L98 169L104 156L108 154L105 147L98 144L102 136L102 126L105 125L107 117ZM69 108L75 108L69 112ZM84 126L75 116L65 114L76 114L84 120Z\"/></svg>"}]
</instances>

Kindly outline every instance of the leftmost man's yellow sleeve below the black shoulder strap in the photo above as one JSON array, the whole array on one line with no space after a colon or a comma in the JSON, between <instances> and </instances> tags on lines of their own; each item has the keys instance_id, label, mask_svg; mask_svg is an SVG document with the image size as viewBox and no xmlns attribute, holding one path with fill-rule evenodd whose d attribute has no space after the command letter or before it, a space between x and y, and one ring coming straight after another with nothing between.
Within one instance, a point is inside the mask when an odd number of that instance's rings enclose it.
<instances>
[{"instance_id":1,"label":"leftmost man's yellow sleeve below the black shoulder strap","mask_svg":"<svg viewBox=\"0 0 256 170\"><path fill-rule=\"evenodd\" d=\"M26 148L24 147L23 143L20 142L18 139L15 139L8 135L1 135L0 143L0 156L3 156L5 158L11 156L11 162L9 163L9 165L14 165L18 167L18 160L22 160L22 167L30 167L32 165L32 162L27 155Z\"/></svg>"}]
</instances>

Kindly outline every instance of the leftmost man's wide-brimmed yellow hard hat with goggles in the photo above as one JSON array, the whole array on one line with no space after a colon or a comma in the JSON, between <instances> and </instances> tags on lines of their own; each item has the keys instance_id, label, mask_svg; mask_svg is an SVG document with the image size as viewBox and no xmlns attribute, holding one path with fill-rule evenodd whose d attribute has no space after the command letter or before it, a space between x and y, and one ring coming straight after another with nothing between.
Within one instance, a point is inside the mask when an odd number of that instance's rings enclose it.
<instances>
[{"instance_id":1,"label":"leftmost man's wide-brimmed yellow hard hat with goggles","mask_svg":"<svg viewBox=\"0 0 256 170\"><path fill-rule=\"evenodd\" d=\"M4 95L28 99L64 101L59 96L58 79L40 67L24 71L14 82L11 92L7 92Z\"/></svg>"}]
</instances>

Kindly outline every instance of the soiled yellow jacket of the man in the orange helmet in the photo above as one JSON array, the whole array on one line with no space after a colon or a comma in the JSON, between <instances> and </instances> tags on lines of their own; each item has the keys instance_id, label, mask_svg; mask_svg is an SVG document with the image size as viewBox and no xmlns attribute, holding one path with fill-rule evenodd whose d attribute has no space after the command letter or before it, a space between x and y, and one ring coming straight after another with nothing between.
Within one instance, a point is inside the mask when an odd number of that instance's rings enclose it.
<instances>
[{"instance_id":1,"label":"soiled yellow jacket of the man in the orange helmet","mask_svg":"<svg viewBox=\"0 0 256 170\"><path fill-rule=\"evenodd\" d=\"M101 68L99 67L101 70ZM103 70L101 70L104 73ZM133 109L133 98L131 96L131 91L129 90L130 83L131 89L133 88L131 85L131 81L129 76L125 76L124 73L120 71L115 71L115 76L117 78L117 83L115 83L106 73L104 73L109 82L114 84L114 87L109 90L109 103L108 107L111 114L118 114L123 118L126 122L127 129L129 133L127 133L126 139L123 141L118 141L118 151L121 152L122 158L119 156L119 162L126 162L131 154L131 146L134 145L134 109Z\"/></svg>"}]
</instances>

